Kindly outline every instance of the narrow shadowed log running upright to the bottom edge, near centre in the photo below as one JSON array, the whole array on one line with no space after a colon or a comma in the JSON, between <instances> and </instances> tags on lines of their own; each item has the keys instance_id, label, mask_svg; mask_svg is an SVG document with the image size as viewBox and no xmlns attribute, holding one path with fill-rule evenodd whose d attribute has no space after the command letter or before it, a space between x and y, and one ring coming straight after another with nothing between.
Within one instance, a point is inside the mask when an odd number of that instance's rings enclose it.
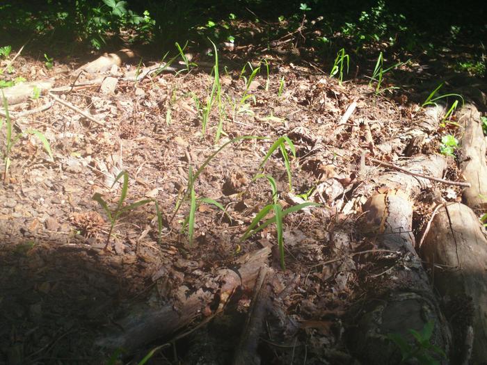
<instances>
[{"instance_id":1,"label":"narrow shadowed log running upright to the bottom edge, near centre","mask_svg":"<svg viewBox=\"0 0 487 365\"><path fill-rule=\"evenodd\" d=\"M271 304L272 277L273 270L267 266L262 266L255 281L246 325L241 334L239 346L235 351L234 365L259 365L261 362L259 355L257 355L257 346L259 345L260 334L262 334L264 319Z\"/></svg>"}]
</instances>

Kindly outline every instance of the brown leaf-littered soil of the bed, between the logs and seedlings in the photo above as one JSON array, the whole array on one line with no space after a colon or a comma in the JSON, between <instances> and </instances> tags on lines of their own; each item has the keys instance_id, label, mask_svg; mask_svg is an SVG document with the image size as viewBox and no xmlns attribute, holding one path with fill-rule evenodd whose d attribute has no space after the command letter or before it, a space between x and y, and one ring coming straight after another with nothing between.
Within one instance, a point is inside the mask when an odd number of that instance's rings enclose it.
<instances>
[{"instance_id":1,"label":"brown leaf-littered soil of the bed, between the logs and seedlings","mask_svg":"<svg viewBox=\"0 0 487 365\"><path fill-rule=\"evenodd\" d=\"M282 63L277 56L265 56L271 65L269 79L265 72L257 74L248 90L252 98L242 104L248 108L240 113L232 104L238 110L246 83L230 57L222 57L225 122L217 142L216 106L205 133L201 125L213 81L209 70L152 74L140 82L122 79L122 74L137 69L138 59L112 68L117 81L113 92L98 83L57 94L102 121L102 126L60 103L17 120L20 129L45 135L54 161L38 138L21 138L12 149L0 189L0 364L104 364L113 351L94 344L118 325L127 309L141 302L151 307L170 303L179 298L181 288L199 289L201 277L232 268L239 257L268 246L269 266L276 270L281 289L287 288L282 308L296 328L294 333L275 334L268 325L260 346L262 361L353 363L344 335L346 325L356 320L350 315L356 311L349 309L360 306L368 275L381 275L394 265L394 257L374 252L379 248L356 223L362 211L354 192L367 181L367 176L359 176L360 156L367 153L392 162L404 158L412 138L407 132L424 113L418 104L421 97L419 92L411 97L394 90L376 95L365 79L339 83L305 62ZM29 56L15 60L17 75L28 81L52 77L54 88L71 86L74 76L69 72L79 66L58 63L48 70ZM401 66L405 77L414 75L414 66ZM429 76L415 75L416 83ZM280 90L282 77L285 85ZM94 78L82 74L77 83ZM391 76L383 87L401 81ZM10 112L38 108L49 100L42 95L10 106ZM342 120L354 102L355 110ZM418 152L438 153L445 129L431 133ZM4 133L3 129L2 140ZM190 204L181 202L189 171L195 172L218 147L238 136L265 139L231 143L203 170L195 195L218 202L225 214L208 201L200 202L190 243L187 229L182 229ZM261 168L281 136L288 136L296 147L296 158L288 149L291 192L279 151ZM454 160L449 162L447 178L457 179ZM122 188L120 181L111 186L122 170L129 174L125 206L157 200L163 223L160 240L152 202L120 216L109 236L109 218L92 197L101 194L113 211ZM260 172L276 179L283 209L298 202L296 195L310 191L307 199L321 204L285 216L285 270L280 268L275 225L240 240L255 214L273 201L269 182L254 179ZM439 194L459 201L459 192L441 186ZM431 196L424 190L415 197L417 236L431 214ZM181 208L175 213L177 204ZM192 327L151 361L230 363L250 298L251 293L235 293L209 324ZM136 364L150 349L170 340L147 343L125 354L124 363Z\"/></svg>"}]
</instances>

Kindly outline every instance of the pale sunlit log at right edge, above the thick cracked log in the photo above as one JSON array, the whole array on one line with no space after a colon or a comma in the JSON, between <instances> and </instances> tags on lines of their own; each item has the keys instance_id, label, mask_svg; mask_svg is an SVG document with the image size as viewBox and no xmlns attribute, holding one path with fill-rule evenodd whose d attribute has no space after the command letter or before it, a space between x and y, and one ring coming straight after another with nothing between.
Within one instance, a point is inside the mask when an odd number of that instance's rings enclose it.
<instances>
[{"instance_id":1,"label":"pale sunlit log at right edge, above the thick cracked log","mask_svg":"<svg viewBox=\"0 0 487 365\"><path fill-rule=\"evenodd\" d=\"M487 209L487 163L484 131L480 113L472 104L466 104L457 113L458 121L465 127L461 138L460 168L465 181L471 187L465 188L462 201L470 208Z\"/></svg>"}]
</instances>

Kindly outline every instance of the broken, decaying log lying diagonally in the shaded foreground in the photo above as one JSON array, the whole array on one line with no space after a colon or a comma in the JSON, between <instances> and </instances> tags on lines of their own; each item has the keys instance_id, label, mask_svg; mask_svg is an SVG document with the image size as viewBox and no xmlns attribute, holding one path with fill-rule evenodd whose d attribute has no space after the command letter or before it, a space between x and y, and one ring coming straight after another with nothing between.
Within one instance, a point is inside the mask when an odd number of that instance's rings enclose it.
<instances>
[{"instance_id":1,"label":"broken, decaying log lying diagonally in the shaded foreground","mask_svg":"<svg viewBox=\"0 0 487 365\"><path fill-rule=\"evenodd\" d=\"M216 295L219 297L219 307L223 307L238 286L250 290L260 268L268 263L270 253L269 247L251 252L237 262L238 271L230 268L218 270L216 275L204 278L204 288L198 289L187 297L178 295L177 300L160 309L153 309L147 305L131 308L125 318L117 321L117 324L123 328L122 332L115 332L99 339L97 346L111 350L124 348L127 352L131 352L155 339L172 336L177 330L193 322L203 311L209 309ZM211 313L205 314L208 316Z\"/></svg>"}]
</instances>

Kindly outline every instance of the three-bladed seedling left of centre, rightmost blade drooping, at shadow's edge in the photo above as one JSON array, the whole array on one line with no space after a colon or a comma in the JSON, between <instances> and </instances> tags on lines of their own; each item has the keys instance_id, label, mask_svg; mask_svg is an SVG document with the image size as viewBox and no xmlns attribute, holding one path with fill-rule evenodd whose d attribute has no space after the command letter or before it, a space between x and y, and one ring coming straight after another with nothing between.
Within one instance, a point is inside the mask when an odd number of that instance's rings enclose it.
<instances>
[{"instance_id":1,"label":"three-bladed seedling left of centre, rightmost blade drooping, at shadow's edge","mask_svg":"<svg viewBox=\"0 0 487 365\"><path fill-rule=\"evenodd\" d=\"M159 232L159 244L161 243L161 234L162 234L162 215L161 211L159 210L159 204L157 203L157 200L154 199L144 199L144 200L139 200L138 202L129 204L127 206L124 206L125 198L127 197L127 192L129 190L129 174L127 171L121 171L120 174L115 177L115 181L113 181L113 184L111 188L117 183L118 180L123 178L122 181L122 192L120 193L120 198L118 199L118 204L115 208L115 210L111 211L109 209L108 204L106 204L106 201L103 199L102 195L100 193L95 193L92 197L93 200L98 202L100 206L102 206L103 210L106 213L106 216L110 220L110 231L109 235L106 238L106 245L105 245L105 250L109 246L110 243L110 238L111 234L113 232L113 227L115 227L115 223L118 221L120 216L122 216L123 213L127 213L128 211L132 211L136 209L138 206L142 206L145 204L150 204L152 202L155 203L156 206L156 212L157 212L157 228Z\"/></svg>"}]
</instances>

